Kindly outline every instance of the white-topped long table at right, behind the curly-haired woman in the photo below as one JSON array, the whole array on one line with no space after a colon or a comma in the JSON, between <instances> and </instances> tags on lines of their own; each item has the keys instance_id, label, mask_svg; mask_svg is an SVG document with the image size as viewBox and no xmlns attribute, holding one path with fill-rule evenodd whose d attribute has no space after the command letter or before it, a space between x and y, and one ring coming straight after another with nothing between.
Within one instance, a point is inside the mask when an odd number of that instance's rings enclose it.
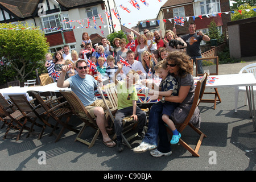
<instances>
[{"instance_id":1,"label":"white-topped long table at right, behind the curly-haired woman","mask_svg":"<svg viewBox=\"0 0 256 182\"><path fill-rule=\"evenodd\" d=\"M194 80L198 80L200 77L194 77ZM253 73L231 74L231 75L210 75L207 80L205 88L225 88L225 87L237 87L245 86L246 94L248 98L248 105L250 116L253 120L253 128L256 131L256 116L255 116L255 104L254 104L254 92L253 86L256 85L256 79Z\"/></svg>"}]
</instances>

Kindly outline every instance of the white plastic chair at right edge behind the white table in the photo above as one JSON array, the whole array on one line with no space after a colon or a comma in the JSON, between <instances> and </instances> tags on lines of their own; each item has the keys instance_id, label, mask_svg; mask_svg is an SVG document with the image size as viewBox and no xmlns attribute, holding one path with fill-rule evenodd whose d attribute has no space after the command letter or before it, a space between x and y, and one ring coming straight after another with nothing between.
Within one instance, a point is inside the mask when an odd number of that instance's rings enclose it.
<instances>
[{"instance_id":1,"label":"white plastic chair at right edge behind the white table","mask_svg":"<svg viewBox=\"0 0 256 182\"><path fill-rule=\"evenodd\" d=\"M253 73L254 77L256 78L256 63L249 64L249 65L243 67L240 70L239 74L242 74L243 72ZM256 92L256 86L253 86L253 90L254 90L254 92ZM238 86L238 87L236 87L235 88L235 113L237 113L238 94L241 91L245 92L245 105L248 105L245 86Z\"/></svg>"}]
</instances>

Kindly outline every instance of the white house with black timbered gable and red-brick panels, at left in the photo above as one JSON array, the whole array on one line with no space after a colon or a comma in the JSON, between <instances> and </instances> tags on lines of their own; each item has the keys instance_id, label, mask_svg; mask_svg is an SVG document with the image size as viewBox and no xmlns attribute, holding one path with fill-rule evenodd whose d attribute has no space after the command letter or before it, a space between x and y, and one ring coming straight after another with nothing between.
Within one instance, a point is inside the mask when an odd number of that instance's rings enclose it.
<instances>
[{"instance_id":1,"label":"white house with black timbered gable and red-brick panels, at left","mask_svg":"<svg viewBox=\"0 0 256 182\"><path fill-rule=\"evenodd\" d=\"M80 51L83 32L88 32L95 44L101 37L121 30L114 14L118 12L113 10L117 10L114 0L0 0L0 23L27 22L40 27L50 52L64 44Z\"/></svg>"}]
</instances>

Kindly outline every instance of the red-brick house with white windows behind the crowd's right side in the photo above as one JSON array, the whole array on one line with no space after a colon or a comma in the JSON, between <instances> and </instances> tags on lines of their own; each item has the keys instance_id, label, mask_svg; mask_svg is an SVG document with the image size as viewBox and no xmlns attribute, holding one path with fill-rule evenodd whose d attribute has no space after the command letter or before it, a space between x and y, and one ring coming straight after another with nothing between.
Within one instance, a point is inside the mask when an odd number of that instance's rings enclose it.
<instances>
[{"instance_id":1,"label":"red-brick house with white windows behind the crowd's right side","mask_svg":"<svg viewBox=\"0 0 256 182\"><path fill-rule=\"evenodd\" d=\"M175 16L184 18L184 26L174 24ZM226 35L227 22L231 20L229 0L168 0L160 8L157 18L166 20L160 22L160 29L172 30L175 26L178 36L189 33L191 22L196 24L197 31L201 30L205 34L212 20L216 22L220 33Z\"/></svg>"}]
</instances>

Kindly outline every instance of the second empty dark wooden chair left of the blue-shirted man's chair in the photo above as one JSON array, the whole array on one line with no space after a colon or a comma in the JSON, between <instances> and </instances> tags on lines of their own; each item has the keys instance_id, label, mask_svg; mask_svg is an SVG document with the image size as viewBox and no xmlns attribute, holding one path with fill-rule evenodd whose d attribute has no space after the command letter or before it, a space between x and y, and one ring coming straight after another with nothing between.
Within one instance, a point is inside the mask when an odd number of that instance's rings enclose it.
<instances>
[{"instance_id":1,"label":"second empty dark wooden chair left of the blue-shirted man's chair","mask_svg":"<svg viewBox=\"0 0 256 182\"><path fill-rule=\"evenodd\" d=\"M44 110L43 107L32 105L23 94L12 95L9 97L18 110L23 114L26 122L31 122L30 131L28 132L27 137L29 137L30 134L33 134L39 135L38 139L40 139L44 133L46 125L51 126L48 123L46 110ZM37 119L42 123L37 122ZM24 125L26 125L26 123L24 123ZM34 132L35 125L42 127L40 132Z\"/></svg>"}]
</instances>

